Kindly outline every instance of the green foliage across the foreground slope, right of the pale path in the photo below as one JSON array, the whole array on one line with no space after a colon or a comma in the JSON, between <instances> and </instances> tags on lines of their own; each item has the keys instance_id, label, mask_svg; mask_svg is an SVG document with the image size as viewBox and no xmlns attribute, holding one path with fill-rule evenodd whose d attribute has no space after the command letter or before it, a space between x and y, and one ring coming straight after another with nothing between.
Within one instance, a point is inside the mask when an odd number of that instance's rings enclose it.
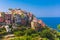
<instances>
[{"instance_id":1,"label":"green foliage across the foreground slope, right of the pale path","mask_svg":"<svg viewBox=\"0 0 60 40\"><path fill-rule=\"evenodd\" d=\"M23 29L23 28L22 28ZM55 30L52 30L48 27L43 28L42 31L36 31L33 29L24 29L24 30L14 31L16 38L11 40L60 40L58 33Z\"/></svg>"}]
</instances>

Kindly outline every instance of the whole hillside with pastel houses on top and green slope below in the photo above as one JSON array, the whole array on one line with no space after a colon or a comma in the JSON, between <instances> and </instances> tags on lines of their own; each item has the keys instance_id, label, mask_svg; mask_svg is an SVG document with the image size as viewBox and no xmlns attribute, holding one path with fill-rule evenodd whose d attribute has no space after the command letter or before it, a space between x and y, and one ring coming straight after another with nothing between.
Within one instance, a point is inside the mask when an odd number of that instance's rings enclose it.
<instances>
[{"instance_id":1,"label":"whole hillside with pastel houses on top and green slope below","mask_svg":"<svg viewBox=\"0 0 60 40\"><path fill-rule=\"evenodd\" d=\"M60 40L60 32L31 12L9 8L8 12L0 12L0 40Z\"/></svg>"}]
</instances>

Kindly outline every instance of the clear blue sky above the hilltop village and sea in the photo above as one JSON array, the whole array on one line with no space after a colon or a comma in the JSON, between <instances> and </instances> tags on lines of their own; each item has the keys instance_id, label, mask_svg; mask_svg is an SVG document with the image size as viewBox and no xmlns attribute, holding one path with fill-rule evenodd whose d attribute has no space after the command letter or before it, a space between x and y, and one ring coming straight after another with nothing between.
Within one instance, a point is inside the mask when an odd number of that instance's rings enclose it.
<instances>
[{"instance_id":1,"label":"clear blue sky above the hilltop village and sea","mask_svg":"<svg viewBox=\"0 0 60 40\"><path fill-rule=\"evenodd\" d=\"M60 17L60 0L0 0L0 11L21 8L36 17Z\"/></svg>"}]
</instances>

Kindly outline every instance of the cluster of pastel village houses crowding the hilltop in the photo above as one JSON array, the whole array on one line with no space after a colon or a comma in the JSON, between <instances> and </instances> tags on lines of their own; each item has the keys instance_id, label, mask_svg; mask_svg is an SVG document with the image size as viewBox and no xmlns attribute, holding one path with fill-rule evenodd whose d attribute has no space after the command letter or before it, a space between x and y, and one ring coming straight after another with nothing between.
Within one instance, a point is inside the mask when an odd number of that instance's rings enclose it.
<instances>
[{"instance_id":1,"label":"cluster of pastel village houses crowding the hilltop","mask_svg":"<svg viewBox=\"0 0 60 40\"><path fill-rule=\"evenodd\" d=\"M26 12L21 9L9 9L9 12L0 12L0 28L5 28L7 32L11 32L16 29L17 26L27 26L27 28L32 28L38 30L46 25L42 20L38 20L31 12Z\"/></svg>"}]
</instances>

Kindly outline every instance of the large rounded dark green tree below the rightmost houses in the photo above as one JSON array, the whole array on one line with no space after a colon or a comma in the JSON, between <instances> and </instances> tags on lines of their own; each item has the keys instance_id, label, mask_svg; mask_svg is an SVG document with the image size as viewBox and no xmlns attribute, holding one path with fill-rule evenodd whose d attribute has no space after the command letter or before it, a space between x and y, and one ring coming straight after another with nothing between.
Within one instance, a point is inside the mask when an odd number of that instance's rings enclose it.
<instances>
[{"instance_id":1,"label":"large rounded dark green tree below the rightmost houses","mask_svg":"<svg viewBox=\"0 0 60 40\"><path fill-rule=\"evenodd\" d=\"M53 40L55 38L55 35L51 32L51 30L43 30L41 33L40 33L40 36L43 37L43 38L48 38L50 40Z\"/></svg>"}]
</instances>

